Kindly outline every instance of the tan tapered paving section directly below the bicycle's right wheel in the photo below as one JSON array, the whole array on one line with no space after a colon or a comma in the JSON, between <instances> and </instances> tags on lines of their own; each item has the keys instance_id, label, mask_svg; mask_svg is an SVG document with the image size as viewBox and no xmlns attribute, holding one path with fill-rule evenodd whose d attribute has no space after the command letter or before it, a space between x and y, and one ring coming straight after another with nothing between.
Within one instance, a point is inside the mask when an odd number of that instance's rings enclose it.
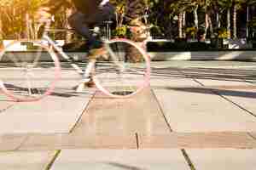
<instances>
[{"instance_id":1,"label":"tan tapered paving section directly below the bicycle's right wheel","mask_svg":"<svg viewBox=\"0 0 256 170\"><path fill-rule=\"evenodd\" d=\"M169 133L159 105L151 90L129 99L109 99L97 93L86 113L73 129L79 134Z\"/></svg>"}]
</instances>

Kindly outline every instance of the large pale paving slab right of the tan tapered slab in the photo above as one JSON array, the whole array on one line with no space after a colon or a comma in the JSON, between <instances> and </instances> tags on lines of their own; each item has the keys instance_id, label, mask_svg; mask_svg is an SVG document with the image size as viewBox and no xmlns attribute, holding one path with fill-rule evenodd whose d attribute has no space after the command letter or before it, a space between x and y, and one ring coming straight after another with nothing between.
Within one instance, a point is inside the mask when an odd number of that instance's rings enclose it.
<instances>
[{"instance_id":1,"label":"large pale paving slab right of the tan tapered slab","mask_svg":"<svg viewBox=\"0 0 256 170\"><path fill-rule=\"evenodd\" d=\"M193 89L193 88L192 88ZM154 89L172 130L175 132L250 132L256 118L211 90L191 88Z\"/></svg>"}]
</instances>

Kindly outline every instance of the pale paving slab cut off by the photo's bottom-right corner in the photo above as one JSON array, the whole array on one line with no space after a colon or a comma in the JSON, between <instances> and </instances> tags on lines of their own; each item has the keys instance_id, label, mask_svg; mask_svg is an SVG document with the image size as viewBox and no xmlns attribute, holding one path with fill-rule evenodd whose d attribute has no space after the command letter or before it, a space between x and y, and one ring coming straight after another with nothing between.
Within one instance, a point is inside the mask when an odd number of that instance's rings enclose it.
<instances>
[{"instance_id":1,"label":"pale paving slab cut off by the photo's bottom-right corner","mask_svg":"<svg viewBox=\"0 0 256 170\"><path fill-rule=\"evenodd\" d=\"M193 162L195 169L207 170L252 170L256 167L256 150L235 150L235 149L206 149L186 150Z\"/></svg>"}]
</instances>

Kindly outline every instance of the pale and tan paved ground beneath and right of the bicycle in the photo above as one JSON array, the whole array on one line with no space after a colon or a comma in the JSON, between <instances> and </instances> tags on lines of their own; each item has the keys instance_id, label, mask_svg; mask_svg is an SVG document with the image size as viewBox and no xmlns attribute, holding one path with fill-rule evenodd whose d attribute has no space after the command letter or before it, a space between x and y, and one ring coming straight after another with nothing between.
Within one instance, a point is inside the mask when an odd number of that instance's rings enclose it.
<instances>
[{"instance_id":1,"label":"pale and tan paved ground beneath and right of the bicycle","mask_svg":"<svg viewBox=\"0 0 256 170\"><path fill-rule=\"evenodd\" d=\"M0 167L251 170L255 64L154 62L151 87L131 99L71 95L64 80L62 95L34 104L0 94Z\"/></svg>"}]
</instances>

